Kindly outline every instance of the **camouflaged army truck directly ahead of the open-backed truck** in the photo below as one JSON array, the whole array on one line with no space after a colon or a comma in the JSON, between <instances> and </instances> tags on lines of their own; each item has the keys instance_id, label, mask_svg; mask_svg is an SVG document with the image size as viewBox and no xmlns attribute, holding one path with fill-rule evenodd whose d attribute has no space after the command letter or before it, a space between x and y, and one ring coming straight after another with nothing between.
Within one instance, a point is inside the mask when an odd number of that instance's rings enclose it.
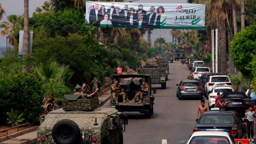
<instances>
[{"instance_id":1,"label":"camouflaged army truck directly ahead of the open-backed truck","mask_svg":"<svg viewBox=\"0 0 256 144\"><path fill-rule=\"evenodd\" d=\"M151 84L161 84L162 89L166 89L166 71L161 66L148 63L137 69L138 74L151 76Z\"/></svg>"}]
</instances>

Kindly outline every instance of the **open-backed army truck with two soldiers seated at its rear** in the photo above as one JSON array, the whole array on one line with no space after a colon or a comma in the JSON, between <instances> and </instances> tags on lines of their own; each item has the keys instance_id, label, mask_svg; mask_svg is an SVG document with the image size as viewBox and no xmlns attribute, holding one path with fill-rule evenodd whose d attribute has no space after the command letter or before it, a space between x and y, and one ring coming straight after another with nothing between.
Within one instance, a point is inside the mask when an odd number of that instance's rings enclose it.
<instances>
[{"instance_id":1,"label":"open-backed army truck with two soldiers seated at its rear","mask_svg":"<svg viewBox=\"0 0 256 144\"><path fill-rule=\"evenodd\" d=\"M122 95L117 97L118 103L112 97L110 97L110 107L116 108L118 111L139 111L145 114L147 118L150 118L154 113L153 101L154 95L151 92L151 80L150 75L139 75L139 74L122 74L122 75L111 75L111 79L119 79L119 84L121 85L121 90L125 92L126 98L132 100L135 94L140 90L140 85L142 78L145 79L146 83L149 85L149 91L147 95L143 96L142 103L135 102L123 102ZM154 92L155 93L155 92Z\"/></svg>"}]
</instances>

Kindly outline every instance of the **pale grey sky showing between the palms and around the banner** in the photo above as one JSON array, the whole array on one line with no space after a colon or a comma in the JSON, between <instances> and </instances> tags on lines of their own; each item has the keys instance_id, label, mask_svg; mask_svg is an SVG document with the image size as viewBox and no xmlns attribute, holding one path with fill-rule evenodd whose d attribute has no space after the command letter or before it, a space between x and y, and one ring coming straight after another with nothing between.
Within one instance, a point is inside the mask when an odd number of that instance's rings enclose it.
<instances>
[{"instance_id":1,"label":"pale grey sky showing between the palms and around the banner","mask_svg":"<svg viewBox=\"0 0 256 144\"><path fill-rule=\"evenodd\" d=\"M29 1L29 17L32 17L33 12L35 11L36 7L42 6L43 3L47 0L30 0ZM6 15L4 15L3 19L0 21L3 22L7 19L7 15L17 14L21 15L24 11L24 4L22 0L0 0L0 3L5 9ZM135 3L156 3L156 0L139 0ZM157 0L157 3L187 3L187 0ZM161 31L161 33L160 33ZM164 37L166 42L171 42L171 35L169 33L169 29L155 29L151 34L152 42L158 37ZM147 39L147 34L144 36ZM2 51L5 50L6 47L6 36L0 37L0 53L1 48Z\"/></svg>"}]
</instances>

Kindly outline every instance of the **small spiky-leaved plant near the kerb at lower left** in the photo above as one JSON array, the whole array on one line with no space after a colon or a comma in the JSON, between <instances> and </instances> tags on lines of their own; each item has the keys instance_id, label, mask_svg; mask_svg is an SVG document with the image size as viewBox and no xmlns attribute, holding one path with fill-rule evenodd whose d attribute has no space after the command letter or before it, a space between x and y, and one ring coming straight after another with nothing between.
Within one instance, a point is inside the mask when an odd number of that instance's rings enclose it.
<instances>
[{"instance_id":1,"label":"small spiky-leaved plant near the kerb at lower left","mask_svg":"<svg viewBox=\"0 0 256 144\"><path fill-rule=\"evenodd\" d=\"M21 118L23 116L23 113L20 113L18 115L18 110L13 110L12 108L10 112L6 112L6 115L8 116L7 123L11 124L12 127L19 125L25 120L25 118Z\"/></svg>"}]
</instances>

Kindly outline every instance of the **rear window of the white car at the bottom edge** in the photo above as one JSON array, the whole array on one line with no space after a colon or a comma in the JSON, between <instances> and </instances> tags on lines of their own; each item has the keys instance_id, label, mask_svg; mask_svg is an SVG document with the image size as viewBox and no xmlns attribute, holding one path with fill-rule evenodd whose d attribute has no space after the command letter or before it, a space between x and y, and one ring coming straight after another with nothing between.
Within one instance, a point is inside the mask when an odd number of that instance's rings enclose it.
<instances>
[{"instance_id":1,"label":"rear window of the white car at the bottom edge","mask_svg":"<svg viewBox=\"0 0 256 144\"><path fill-rule=\"evenodd\" d=\"M189 144L230 144L227 137L223 136L196 136L191 139Z\"/></svg>"}]
</instances>

